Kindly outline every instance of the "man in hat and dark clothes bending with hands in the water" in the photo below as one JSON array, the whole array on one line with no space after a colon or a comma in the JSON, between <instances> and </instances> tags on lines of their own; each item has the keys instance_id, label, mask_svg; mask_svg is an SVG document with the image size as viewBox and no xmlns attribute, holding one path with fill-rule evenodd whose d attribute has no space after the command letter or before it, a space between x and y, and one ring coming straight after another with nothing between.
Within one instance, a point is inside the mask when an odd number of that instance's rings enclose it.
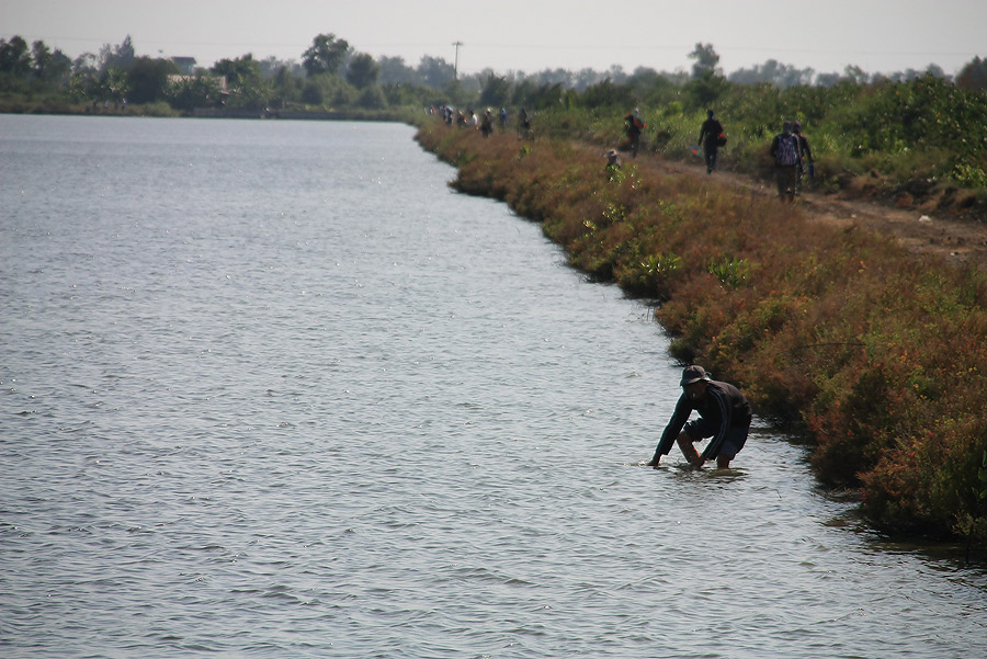
<instances>
[{"instance_id":1,"label":"man in hat and dark clothes bending with hands in the water","mask_svg":"<svg viewBox=\"0 0 987 659\"><path fill-rule=\"evenodd\" d=\"M678 442L693 467L702 467L703 462L715 457L718 468L728 468L730 461L747 443L752 420L750 404L740 389L712 379L702 366L688 366L682 371L682 382L679 384L682 395L661 433L655 457L647 465L657 468L661 456L668 455L672 443ZM700 418L689 421L693 410L699 412ZM693 443L705 438L712 439L700 455Z\"/></svg>"}]
</instances>

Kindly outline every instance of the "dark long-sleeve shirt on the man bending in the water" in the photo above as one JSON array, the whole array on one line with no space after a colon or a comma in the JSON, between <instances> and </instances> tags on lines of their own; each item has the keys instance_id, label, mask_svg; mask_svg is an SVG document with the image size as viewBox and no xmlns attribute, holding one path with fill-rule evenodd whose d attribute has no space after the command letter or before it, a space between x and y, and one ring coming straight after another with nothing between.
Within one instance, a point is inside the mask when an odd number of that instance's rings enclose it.
<instances>
[{"instance_id":1,"label":"dark long-sleeve shirt on the man bending in the water","mask_svg":"<svg viewBox=\"0 0 987 659\"><path fill-rule=\"evenodd\" d=\"M668 455L693 410L699 412L704 420L717 427L713 441L703 451L703 459L708 459L710 456L719 453L730 427L747 425L751 418L750 404L737 387L729 383L710 380L703 397L692 399L685 394L679 397L676 411L668 425L665 427L665 432L661 433L661 441L658 442L655 455Z\"/></svg>"}]
</instances>

